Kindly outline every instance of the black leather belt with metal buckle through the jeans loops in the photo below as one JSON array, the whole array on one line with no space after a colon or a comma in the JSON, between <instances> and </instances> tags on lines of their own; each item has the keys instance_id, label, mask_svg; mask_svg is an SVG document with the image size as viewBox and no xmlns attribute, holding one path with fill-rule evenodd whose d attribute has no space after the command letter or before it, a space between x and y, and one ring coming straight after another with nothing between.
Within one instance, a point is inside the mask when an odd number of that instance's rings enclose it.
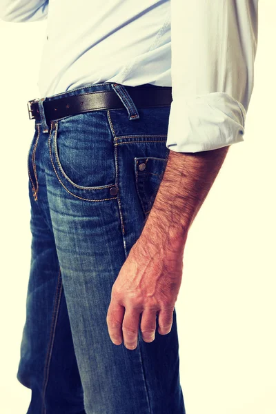
<instances>
[{"instance_id":1,"label":"black leather belt with metal buckle through the jeans loops","mask_svg":"<svg viewBox=\"0 0 276 414\"><path fill-rule=\"evenodd\" d=\"M132 87L132 90L127 86L126 88L137 109L170 106L172 102L172 88L170 86L157 86L156 88L146 88L145 86L145 88L139 89ZM40 119L38 100L28 101L30 119ZM125 106L114 90L104 90L43 101L43 108L46 122L50 126L50 121L69 115L77 115L91 110L121 109Z\"/></svg>"}]
</instances>

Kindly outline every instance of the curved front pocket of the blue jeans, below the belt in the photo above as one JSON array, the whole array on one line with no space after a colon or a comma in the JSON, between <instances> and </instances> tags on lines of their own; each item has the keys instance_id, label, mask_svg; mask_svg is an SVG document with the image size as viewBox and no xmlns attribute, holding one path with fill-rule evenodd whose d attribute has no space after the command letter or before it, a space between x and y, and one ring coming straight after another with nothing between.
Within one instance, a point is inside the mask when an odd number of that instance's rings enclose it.
<instances>
[{"instance_id":1,"label":"curved front pocket of the blue jeans, below the belt","mask_svg":"<svg viewBox=\"0 0 276 414\"><path fill-rule=\"evenodd\" d=\"M114 146L103 112L53 121L49 135L50 159L59 184L87 201L117 195Z\"/></svg>"}]
</instances>

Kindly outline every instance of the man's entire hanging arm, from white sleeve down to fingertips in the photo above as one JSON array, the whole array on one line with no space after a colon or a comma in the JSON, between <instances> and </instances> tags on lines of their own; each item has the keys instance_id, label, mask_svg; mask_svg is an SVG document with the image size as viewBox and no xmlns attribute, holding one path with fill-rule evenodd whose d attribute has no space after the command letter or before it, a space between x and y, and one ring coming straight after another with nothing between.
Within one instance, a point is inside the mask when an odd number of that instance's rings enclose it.
<instances>
[{"instance_id":1,"label":"man's entire hanging arm, from white sleeve down to fingertips","mask_svg":"<svg viewBox=\"0 0 276 414\"><path fill-rule=\"evenodd\" d=\"M258 0L171 0L172 105L164 177L112 286L114 344L165 335L183 273L188 230L230 145L243 141L253 91ZM141 322L140 322L141 316Z\"/></svg>"}]
</instances>

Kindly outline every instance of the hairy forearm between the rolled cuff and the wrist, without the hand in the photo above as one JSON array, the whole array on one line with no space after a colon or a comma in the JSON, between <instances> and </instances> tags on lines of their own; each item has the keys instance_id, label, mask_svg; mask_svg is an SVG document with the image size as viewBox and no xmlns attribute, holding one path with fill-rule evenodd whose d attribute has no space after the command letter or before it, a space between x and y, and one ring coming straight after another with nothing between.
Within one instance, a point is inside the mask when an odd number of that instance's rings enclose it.
<instances>
[{"instance_id":1,"label":"hairy forearm between the rolled cuff and the wrist, without the hand","mask_svg":"<svg viewBox=\"0 0 276 414\"><path fill-rule=\"evenodd\" d=\"M229 146L204 152L170 150L141 238L153 248L181 250L188 230L224 162Z\"/></svg>"}]
</instances>

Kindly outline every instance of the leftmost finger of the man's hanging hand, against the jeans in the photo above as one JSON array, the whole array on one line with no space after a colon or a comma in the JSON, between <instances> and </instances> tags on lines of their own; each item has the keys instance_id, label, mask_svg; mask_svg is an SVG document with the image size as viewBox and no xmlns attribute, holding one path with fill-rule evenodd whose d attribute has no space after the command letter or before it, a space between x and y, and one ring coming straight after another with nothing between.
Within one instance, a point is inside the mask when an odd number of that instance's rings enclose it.
<instances>
[{"instance_id":1,"label":"leftmost finger of the man's hanging hand, against the jeans","mask_svg":"<svg viewBox=\"0 0 276 414\"><path fill-rule=\"evenodd\" d=\"M110 302L106 322L108 324L108 333L113 344L121 345L123 342L123 333L121 326L124 319L125 308L116 302Z\"/></svg>"}]
</instances>

